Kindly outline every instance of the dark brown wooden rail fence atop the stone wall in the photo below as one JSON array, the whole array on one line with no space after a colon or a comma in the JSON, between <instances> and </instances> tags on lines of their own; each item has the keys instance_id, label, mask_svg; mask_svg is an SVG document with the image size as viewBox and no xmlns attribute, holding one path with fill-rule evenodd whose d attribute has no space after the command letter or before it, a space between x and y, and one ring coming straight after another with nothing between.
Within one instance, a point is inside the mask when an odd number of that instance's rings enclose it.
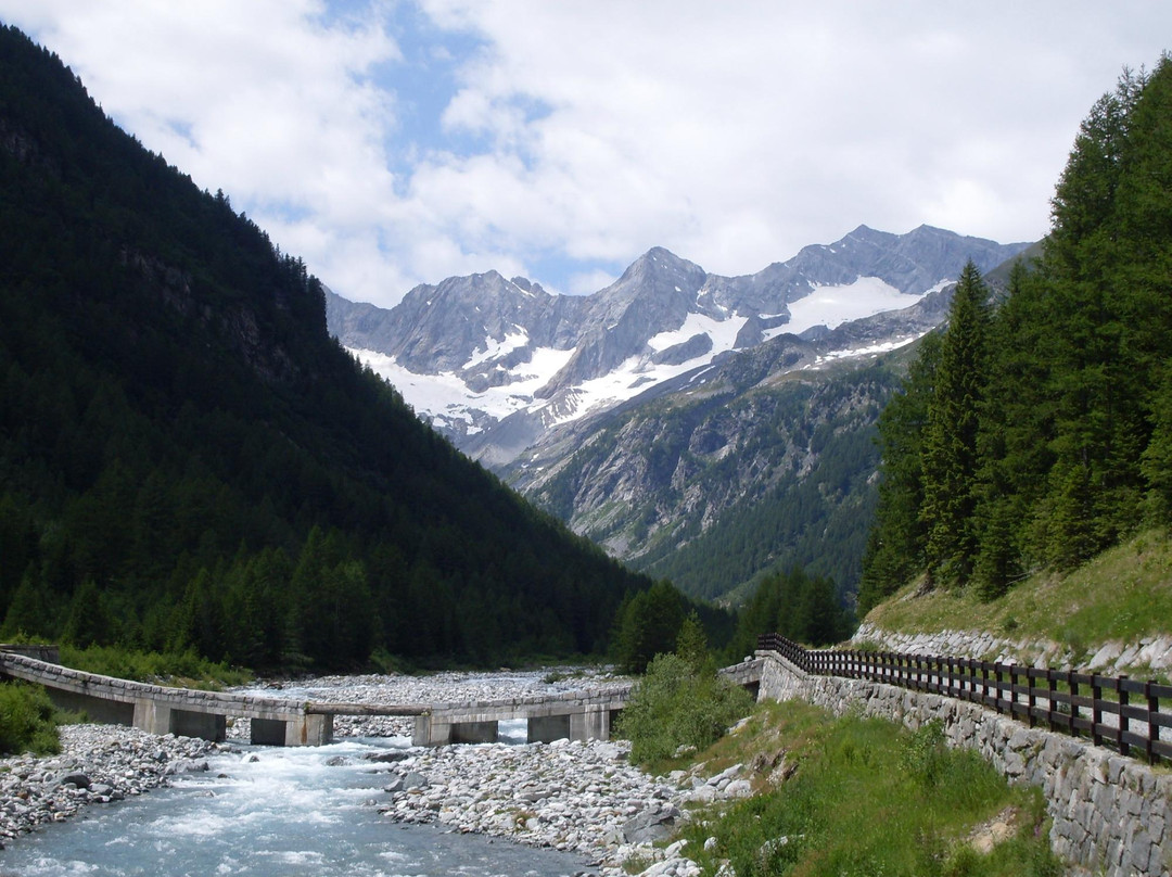
<instances>
[{"instance_id":1,"label":"dark brown wooden rail fence atop the stone wall","mask_svg":"<svg viewBox=\"0 0 1172 877\"><path fill-rule=\"evenodd\" d=\"M1172 761L1172 686L1044 667L893 652L812 651L777 633L762 651L776 652L806 673L870 679L981 703L1028 722L1090 737L1122 755Z\"/></svg>"}]
</instances>

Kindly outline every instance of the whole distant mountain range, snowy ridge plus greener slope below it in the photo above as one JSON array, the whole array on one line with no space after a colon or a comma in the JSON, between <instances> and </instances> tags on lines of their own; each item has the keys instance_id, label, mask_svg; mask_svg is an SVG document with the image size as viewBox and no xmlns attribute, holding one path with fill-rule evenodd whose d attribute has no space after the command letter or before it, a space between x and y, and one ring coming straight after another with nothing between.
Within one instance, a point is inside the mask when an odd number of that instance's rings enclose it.
<instances>
[{"instance_id":1,"label":"whole distant mountain range, snowy ridge plus greener slope below it","mask_svg":"<svg viewBox=\"0 0 1172 877\"><path fill-rule=\"evenodd\" d=\"M421 417L636 569L727 599L797 564L850 592L900 351L966 261L1026 246L859 226L743 277L656 247L592 295L489 272L326 313Z\"/></svg>"}]
</instances>

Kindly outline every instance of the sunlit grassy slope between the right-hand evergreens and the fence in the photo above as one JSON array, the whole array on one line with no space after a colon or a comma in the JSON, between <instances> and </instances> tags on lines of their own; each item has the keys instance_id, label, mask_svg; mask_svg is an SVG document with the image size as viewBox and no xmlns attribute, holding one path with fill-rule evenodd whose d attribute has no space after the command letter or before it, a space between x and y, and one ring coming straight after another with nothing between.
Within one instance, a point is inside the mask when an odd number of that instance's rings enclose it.
<instances>
[{"instance_id":1,"label":"sunlit grassy slope between the right-hand evergreens and the fence","mask_svg":"<svg viewBox=\"0 0 1172 877\"><path fill-rule=\"evenodd\" d=\"M1075 662L1110 640L1172 633L1172 539L1145 531L1074 572L1040 573L983 603L966 591L914 596L911 585L866 620L891 632L983 630L1007 639L1049 639Z\"/></svg>"}]
</instances>

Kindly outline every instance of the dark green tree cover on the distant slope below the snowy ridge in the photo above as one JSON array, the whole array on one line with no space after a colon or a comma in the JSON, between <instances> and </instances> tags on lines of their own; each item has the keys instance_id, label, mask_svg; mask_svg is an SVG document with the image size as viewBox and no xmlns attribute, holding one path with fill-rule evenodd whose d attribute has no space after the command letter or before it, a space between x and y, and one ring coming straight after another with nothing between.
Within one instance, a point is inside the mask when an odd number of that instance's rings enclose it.
<instances>
[{"instance_id":1,"label":"dark green tree cover on the distant slope below the snowy ridge","mask_svg":"<svg viewBox=\"0 0 1172 877\"><path fill-rule=\"evenodd\" d=\"M704 599L791 566L832 579L840 596L854 592L875 502L867 483L879 463L874 423L898 385L895 368L877 365L785 380L736 404L716 396L694 402L695 412L662 413L681 419L689 438L748 430L737 453L723 460L681 453L688 485L704 496L737 484L737 465L754 463L751 471L770 477L742 484L742 498L708 529L696 521L673 532L640 558L640 569Z\"/></svg>"}]
</instances>

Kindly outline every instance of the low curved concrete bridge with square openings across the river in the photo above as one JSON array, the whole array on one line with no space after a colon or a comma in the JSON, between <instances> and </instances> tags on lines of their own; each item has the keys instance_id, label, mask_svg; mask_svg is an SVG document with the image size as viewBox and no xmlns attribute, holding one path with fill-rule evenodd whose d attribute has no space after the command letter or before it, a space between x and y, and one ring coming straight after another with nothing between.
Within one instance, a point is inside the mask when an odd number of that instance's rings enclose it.
<instances>
[{"instance_id":1,"label":"low curved concrete bridge with square openings across the river","mask_svg":"<svg viewBox=\"0 0 1172 877\"><path fill-rule=\"evenodd\" d=\"M754 693L759 660L723 671ZM151 734L220 741L227 719L248 720L253 743L321 746L333 740L335 715L414 716L415 746L495 742L502 721L524 720L530 742L609 740L612 722L626 706L631 686L566 694L459 703L315 702L281 698L172 688L63 667L53 646L0 646L0 677L43 685L62 709L84 712L93 721L131 725Z\"/></svg>"}]
</instances>

